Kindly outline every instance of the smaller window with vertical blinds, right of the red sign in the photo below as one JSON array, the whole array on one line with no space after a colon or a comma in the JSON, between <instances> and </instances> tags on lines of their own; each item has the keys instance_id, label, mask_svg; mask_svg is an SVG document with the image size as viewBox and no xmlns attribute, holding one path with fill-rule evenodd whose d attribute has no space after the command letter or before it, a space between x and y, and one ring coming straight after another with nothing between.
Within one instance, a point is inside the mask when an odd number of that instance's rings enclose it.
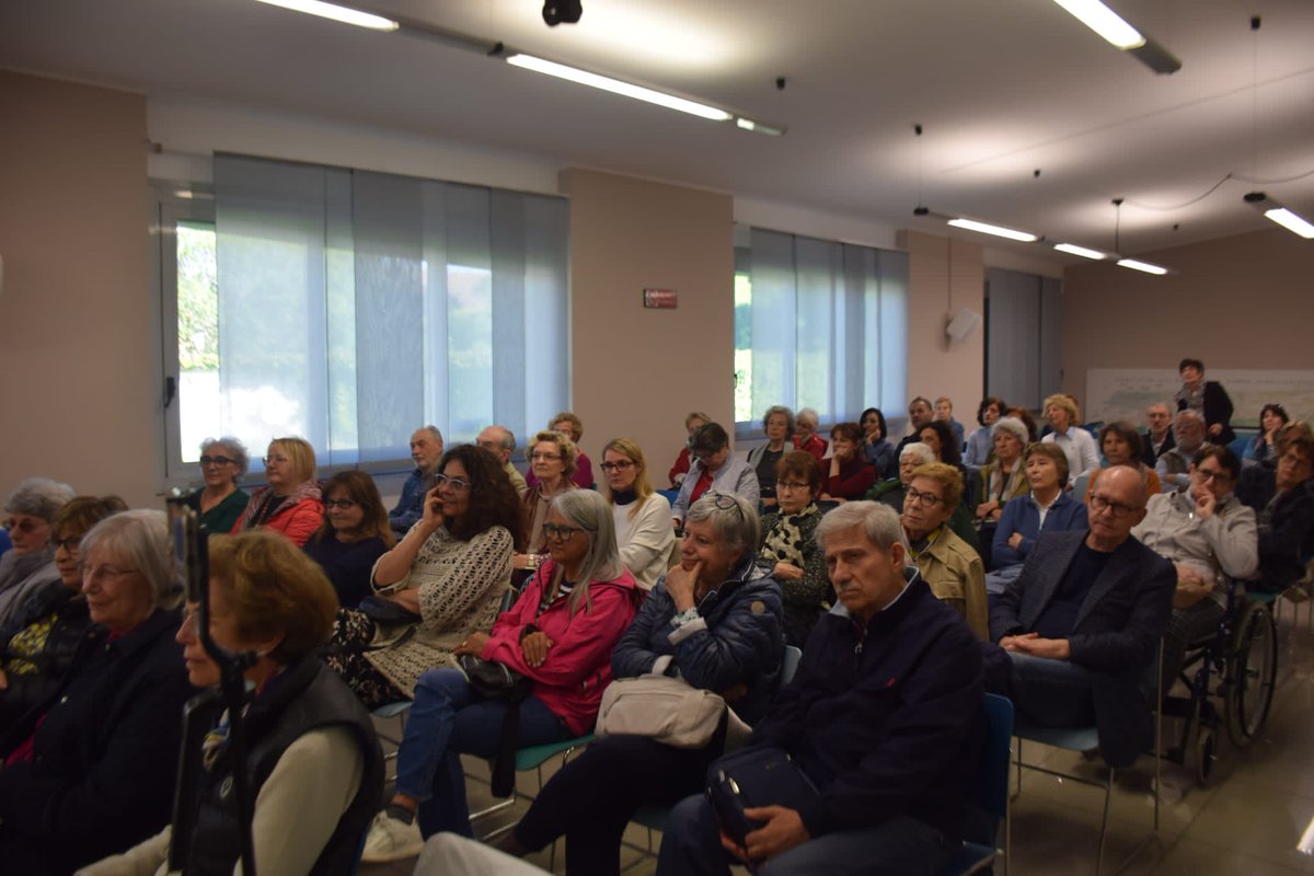
<instances>
[{"instance_id":1,"label":"smaller window with vertical blinds, right of the red sign","mask_svg":"<svg viewBox=\"0 0 1314 876\"><path fill-rule=\"evenodd\" d=\"M908 255L752 229L736 250L735 420L761 431L773 405L823 423L901 408Z\"/></svg>"}]
</instances>

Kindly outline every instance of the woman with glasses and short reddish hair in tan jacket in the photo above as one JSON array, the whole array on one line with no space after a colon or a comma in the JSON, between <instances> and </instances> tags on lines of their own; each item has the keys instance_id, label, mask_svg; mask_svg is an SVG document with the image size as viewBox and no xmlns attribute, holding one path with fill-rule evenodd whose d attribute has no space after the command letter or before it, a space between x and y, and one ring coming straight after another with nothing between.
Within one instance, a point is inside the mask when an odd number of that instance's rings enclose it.
<instances>
[{"instance_id":1,"label":"woman with glasses and short reddish hair in tan jacket","mask_svg":"<svg viewBox=\"0 0 1314 876\"><path fill-rule=\"evenodd\" d=\"M984 641L989 634L986 570L976 552L946 525L962 493L958 469L943 462L922 465L912 473L901 520L909 553L930 592L962 615Z\"/></svg>"}]
</instances>

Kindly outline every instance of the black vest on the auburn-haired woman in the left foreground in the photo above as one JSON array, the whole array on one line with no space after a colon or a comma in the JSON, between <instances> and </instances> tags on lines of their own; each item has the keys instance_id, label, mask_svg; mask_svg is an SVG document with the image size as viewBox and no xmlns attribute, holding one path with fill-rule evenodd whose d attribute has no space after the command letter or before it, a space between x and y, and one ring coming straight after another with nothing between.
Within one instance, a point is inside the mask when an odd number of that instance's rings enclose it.
<instances>
[{"instance_id":1,"label":"black vest on the auburn-haired woman in the left foreground","mask_svg":"<svg viewBox=\"0 0 1314 876\"><path fill-rule=\"evenodd\" d=\"M356 735L365 763L360 789L325 846L311 873L350 873L360 854L361 838L384 796L384 754L369 713L340 678L313 655L286 667L251 704L244 725L247 789L251 809L265 779L288 746L305 733L346 726ZM326 768L332 768L327 766ZM240 856L240 831L233 797L233 764L219 755L213 771L201 771L196 827L192 833L189 876L231 876ZM258 873L260 862L256 860ZM273 876L265 873L264 876Z\"/></svg>"}]
</instances>

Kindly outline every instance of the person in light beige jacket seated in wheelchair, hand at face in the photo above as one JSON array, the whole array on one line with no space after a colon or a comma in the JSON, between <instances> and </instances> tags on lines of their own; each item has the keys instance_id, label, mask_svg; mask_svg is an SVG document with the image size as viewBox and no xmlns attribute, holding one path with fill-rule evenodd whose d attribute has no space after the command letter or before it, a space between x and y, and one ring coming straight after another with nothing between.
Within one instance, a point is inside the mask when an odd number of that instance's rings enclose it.
<instances>
[{"instance_id":1,"label":"person in light beige jacket seated in wheelchair, hand at face","mask_svg":"<svg viewBox=\"0 0 1314 876\"><path fill-rule=\"evenodd\" d=\"M1172 687L1187 646L1213 633L1227 611L1222 578L1252 578L1259 569L1255 512L1233 495L1240 460L1206 444L1190 464L1190 485L1150 496L1146 517L1131 531L1177 570L1172 617L1164 632L1163 683Z\"/></svg>"}]
</instances>

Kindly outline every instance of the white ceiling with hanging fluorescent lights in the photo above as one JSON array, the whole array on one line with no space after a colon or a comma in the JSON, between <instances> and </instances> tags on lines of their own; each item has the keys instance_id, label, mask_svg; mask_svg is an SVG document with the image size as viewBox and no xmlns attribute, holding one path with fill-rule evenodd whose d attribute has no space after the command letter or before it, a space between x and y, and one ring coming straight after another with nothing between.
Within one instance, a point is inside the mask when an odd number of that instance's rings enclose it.
<instances>
[{"instance_id":1,"label":"white ceiling with hanging fluorescent lights","mask_svg":"<svg viewBox=\"0 0 1314 876\"><path fill-rule=\"evenodd\" d=\"M1112 0L1181 60L1171 76L1051 0L583 0L581 22L557 28L544 25L540 0L355 5L681 92L788 134L254 0L5 0L0 64L937 232L913 218L918 200L1112 250L1110 200L1123 197L1125 253L1271 227L1242 202L1256 188L1314 217L1311 0ZM788 79L783 92L777 76Z\"/></svg>"}]
</instances>

